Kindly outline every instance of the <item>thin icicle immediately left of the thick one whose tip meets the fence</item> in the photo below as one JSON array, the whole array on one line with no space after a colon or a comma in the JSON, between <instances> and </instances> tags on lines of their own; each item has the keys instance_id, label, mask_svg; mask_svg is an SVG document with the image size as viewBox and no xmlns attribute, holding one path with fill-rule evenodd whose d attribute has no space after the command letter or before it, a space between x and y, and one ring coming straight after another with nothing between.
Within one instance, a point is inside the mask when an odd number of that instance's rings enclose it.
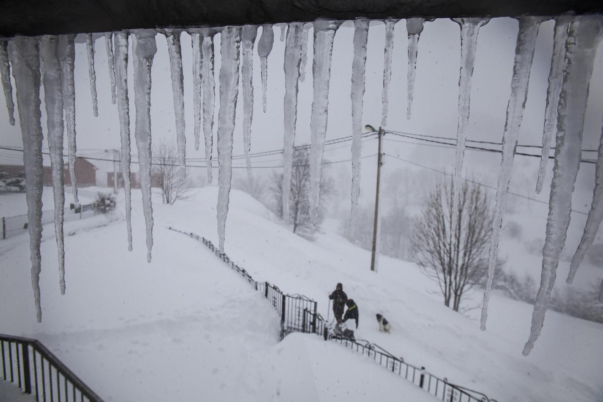
<instances>
[{"instance_id":1,"label":"thin icicle immediately left of the thick one whose tip meets the fence","mask_svg":"<svg viewBox=\"0 0 603 402\"><path fill-rule=\"evenodd\" d=\"M213 109L216 92L213 78L213 36L216 31L204 28L201 43L201 86L203 87L203 135L205 138L205 163L207 165L207 181L212 182L212 148L213 148ZM195 150L199 149L195 142Z\"/></svg>"}]
</instances>

